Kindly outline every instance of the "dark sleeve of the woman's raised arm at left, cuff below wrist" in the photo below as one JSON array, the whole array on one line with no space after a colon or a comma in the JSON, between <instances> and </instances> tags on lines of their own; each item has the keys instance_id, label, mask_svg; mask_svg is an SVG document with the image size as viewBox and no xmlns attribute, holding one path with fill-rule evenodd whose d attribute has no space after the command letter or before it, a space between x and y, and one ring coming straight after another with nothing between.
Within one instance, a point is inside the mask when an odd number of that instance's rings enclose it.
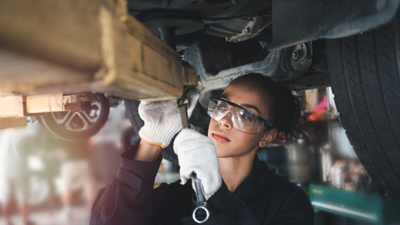
<instances>
[{"instance_id":1,"label":"dark sleeve of the woman's raised arm at left, cuff below wrist","mask_svg":"<svg viewBox=\"0 0 400 225\"><path fill-rule=\"evenodd\" d=\"M98 193L90 225L157 224L152 207L154 179L161 163L132 160L138 145L122 153L116 179Z\"/></svg>"}]
</instances>

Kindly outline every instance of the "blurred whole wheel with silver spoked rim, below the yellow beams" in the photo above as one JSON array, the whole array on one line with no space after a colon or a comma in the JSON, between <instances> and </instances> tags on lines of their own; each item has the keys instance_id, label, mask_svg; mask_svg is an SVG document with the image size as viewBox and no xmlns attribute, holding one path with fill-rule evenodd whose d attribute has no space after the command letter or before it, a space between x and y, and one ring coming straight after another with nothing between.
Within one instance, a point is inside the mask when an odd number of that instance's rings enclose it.
<instances>
[{"instance_id":1,"label":"blurred whole wheel with silver spoked rim, below the yellow beams","mask_svg":"<svg viewBox=\"0 0 400 225\"><path fill-rule=\"evenodd\" d=\"M44 129L56 139L78 141L95 135L106 123L110 113L108 99L98 94L88 111L52 112L38 118Z\"/></svg>"}]
</instances>

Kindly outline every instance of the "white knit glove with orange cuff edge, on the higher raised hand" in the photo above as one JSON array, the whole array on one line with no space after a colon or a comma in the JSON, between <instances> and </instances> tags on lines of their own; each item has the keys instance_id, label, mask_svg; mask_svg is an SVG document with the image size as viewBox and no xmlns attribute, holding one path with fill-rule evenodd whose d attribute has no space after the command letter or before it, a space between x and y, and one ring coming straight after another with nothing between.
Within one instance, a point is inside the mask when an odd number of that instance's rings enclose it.
<instances>
[{"instance_id":1,"label":"white knit glove with orange cuff edge, on the higher raised hand","mask_svg":"<svg viewBox=\"0 0 400 225\"><path fill-rule=\"evenodd\" d=\"M188 116L192 115L196 106L200 91L196 88L190 90L187 94L192 105L188 109ZM176 99L146 102L139 104L139 115L144 121L144 126L139 131L142 140L151 145L166 148L176 133L182 129L182 120Z\"/></svg>"}]
</instances>

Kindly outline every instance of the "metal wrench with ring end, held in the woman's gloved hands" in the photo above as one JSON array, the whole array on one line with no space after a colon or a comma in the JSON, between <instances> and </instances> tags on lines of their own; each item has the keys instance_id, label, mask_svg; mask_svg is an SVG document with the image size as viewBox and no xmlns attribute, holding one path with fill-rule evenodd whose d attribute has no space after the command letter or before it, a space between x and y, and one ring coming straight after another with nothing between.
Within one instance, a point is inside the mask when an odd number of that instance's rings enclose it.
<instances>
[{"instance_id":1,"label":"metal wrench with ring end, held in the woman's gloved hands","mask_svg":"<svg viewBox=\"0 0 400 225\"><path fill-rule=\"evenodd\" d=\"M188 100L188 103L184 103L186 99ZM189 117L188 117L188 108L190 108L191 105L190 98L187 97L180 98L176 101L176 104L178 105L180 119L182 120L183 128L190 128ZM207 203L206 203L206 198L204 197L203 186L201 184L200 179L197 178L196 173L192 173L192 180L194 181L194 186L196 187L196 198L197 198L197 207L193 211L193 219L197 223L204 223L208 220L208 217L210 217L210 211L208 211L208 209L206 208ZM198 211L199 209L206 211L206 218L202 221L199 221L196 218L196 211Z\"/></svg>"}]
</instances>

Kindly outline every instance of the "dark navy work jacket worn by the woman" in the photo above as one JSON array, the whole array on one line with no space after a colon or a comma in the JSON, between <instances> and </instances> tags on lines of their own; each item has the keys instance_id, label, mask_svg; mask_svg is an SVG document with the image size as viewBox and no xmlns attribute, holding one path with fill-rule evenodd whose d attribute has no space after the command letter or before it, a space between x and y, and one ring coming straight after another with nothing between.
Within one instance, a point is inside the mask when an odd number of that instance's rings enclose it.
<instances>
[{"instance_id":1,"label":"dark navy work jacket worn by the woman","mask_svg":"<svg viewBox=\"0 0 400 225\"><path fill-rule=\"evenodd\" d=\"M191 181L162 183L154 189L157 162L132 160L137 145L121 155L116 179L98 193L90 225L198 224L192 218L196 195ZM222 187L207 201L210 218L204 225L314 225L307 195L288 180L273 175L258 157L248 177L231 193Z\"/></svg>"}]
</instances>

